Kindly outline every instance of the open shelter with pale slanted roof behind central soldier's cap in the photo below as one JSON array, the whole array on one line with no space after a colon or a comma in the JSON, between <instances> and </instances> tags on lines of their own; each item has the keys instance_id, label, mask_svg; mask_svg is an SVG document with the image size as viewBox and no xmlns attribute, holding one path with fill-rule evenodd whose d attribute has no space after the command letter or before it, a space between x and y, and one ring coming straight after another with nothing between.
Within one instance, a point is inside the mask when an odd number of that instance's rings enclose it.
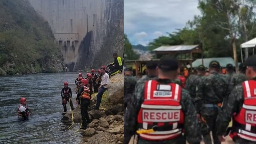
<instances>
[{"instance_id":1,"label":"open shelter with pale slanted roof behind central soldier's cap","mask_svg":"<svg viewBox=\"0 0 256 144\"><path fill-rule=\"evenodd\" d=\"M174 56L181 65L189 64L192 67L192 62L195 60L194 53L199 53L202 57L201 45L165 45L153 50L156 58L161 58L164 55Z\"/></svg>"}]
</instances>

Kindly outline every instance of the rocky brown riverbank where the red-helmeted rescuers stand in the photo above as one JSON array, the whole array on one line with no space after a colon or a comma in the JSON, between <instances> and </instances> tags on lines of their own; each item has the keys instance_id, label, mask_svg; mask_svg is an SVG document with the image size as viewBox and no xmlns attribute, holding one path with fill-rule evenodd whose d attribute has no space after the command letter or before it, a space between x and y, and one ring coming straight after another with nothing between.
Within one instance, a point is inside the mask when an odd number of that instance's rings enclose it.
<instances>
[{"instance_id":1,"label":"rocky brown riverbank where the red-helmeted rescuers stand","mask_svg":"<svg viewBox=\"0 0 256 144\"><path fill-rule=\"evenodd\" d=\"M110 78L108 91L103 94L99 110L92 110L96 105L93 94L88 108L91 123L87 129L80 129L84 144L122 144L124 142L124 76L116 74ZM82 122L80 106L73 111L75 123ZM72 114L64 115L72 121Z\"/></svg>"}]
</instances>

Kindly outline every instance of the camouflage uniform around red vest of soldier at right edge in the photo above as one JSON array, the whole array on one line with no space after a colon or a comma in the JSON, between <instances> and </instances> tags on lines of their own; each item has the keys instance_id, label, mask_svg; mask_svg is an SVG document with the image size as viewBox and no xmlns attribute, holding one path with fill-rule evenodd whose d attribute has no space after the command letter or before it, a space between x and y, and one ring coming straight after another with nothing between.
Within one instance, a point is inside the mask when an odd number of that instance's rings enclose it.
<instances>
[{"instance_id":1,"label":"camouflage uniform around red vest of soldier at right edge","mask_svg":"<svg viewBox=\"0 0 256 144\"><path fill-rule=\"evenodd\" d=\"M256 80L256 78L254 78ZM234 113L239 113L244 104L244 90L242 84L234 87L230 95L223 102L222 110L220 111L217 119L217 135L225 135L231 116ZM236 144L255 144L255 142L244 139L233 139Z\"/></svg>"}]
</instances>

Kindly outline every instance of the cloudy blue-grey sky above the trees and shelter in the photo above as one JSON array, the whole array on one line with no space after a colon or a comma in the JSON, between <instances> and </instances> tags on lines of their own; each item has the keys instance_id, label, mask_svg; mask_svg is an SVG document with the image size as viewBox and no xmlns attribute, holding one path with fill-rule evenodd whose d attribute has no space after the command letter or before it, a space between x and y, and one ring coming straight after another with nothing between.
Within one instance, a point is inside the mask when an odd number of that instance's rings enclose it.
<instances>
[{"instance_id":1,"label":"cloudy blue-grey sky above the trees and shelter","mask_svg":"<svg viewBox=\"0 0 256 144\"><path fill-rule=\"evenodd\" d=\"M197 4L197 0L124 0L124 33L132 44L147 45L200 15Z\"/></svg>"}]
</instances>

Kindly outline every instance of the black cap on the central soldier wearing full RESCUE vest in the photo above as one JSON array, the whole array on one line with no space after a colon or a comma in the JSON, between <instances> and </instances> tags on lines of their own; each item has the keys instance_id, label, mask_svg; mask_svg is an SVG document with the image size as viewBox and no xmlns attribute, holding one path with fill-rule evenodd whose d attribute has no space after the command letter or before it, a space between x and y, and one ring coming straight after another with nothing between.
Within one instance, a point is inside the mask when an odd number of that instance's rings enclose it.
<instances>
[{"instance_id":1,"label":"black cap on the central soldier wearing full RESCUE vest","mask_svg":"<svg viewBox=\"0 0 256 144\"><path fill-rule=\"evenodd\" d=\"M158 62L158 68L165 71L177 70L179 68L179 63L177 60L170 57L163 57Z\"/></svg>"}]
</instances>

